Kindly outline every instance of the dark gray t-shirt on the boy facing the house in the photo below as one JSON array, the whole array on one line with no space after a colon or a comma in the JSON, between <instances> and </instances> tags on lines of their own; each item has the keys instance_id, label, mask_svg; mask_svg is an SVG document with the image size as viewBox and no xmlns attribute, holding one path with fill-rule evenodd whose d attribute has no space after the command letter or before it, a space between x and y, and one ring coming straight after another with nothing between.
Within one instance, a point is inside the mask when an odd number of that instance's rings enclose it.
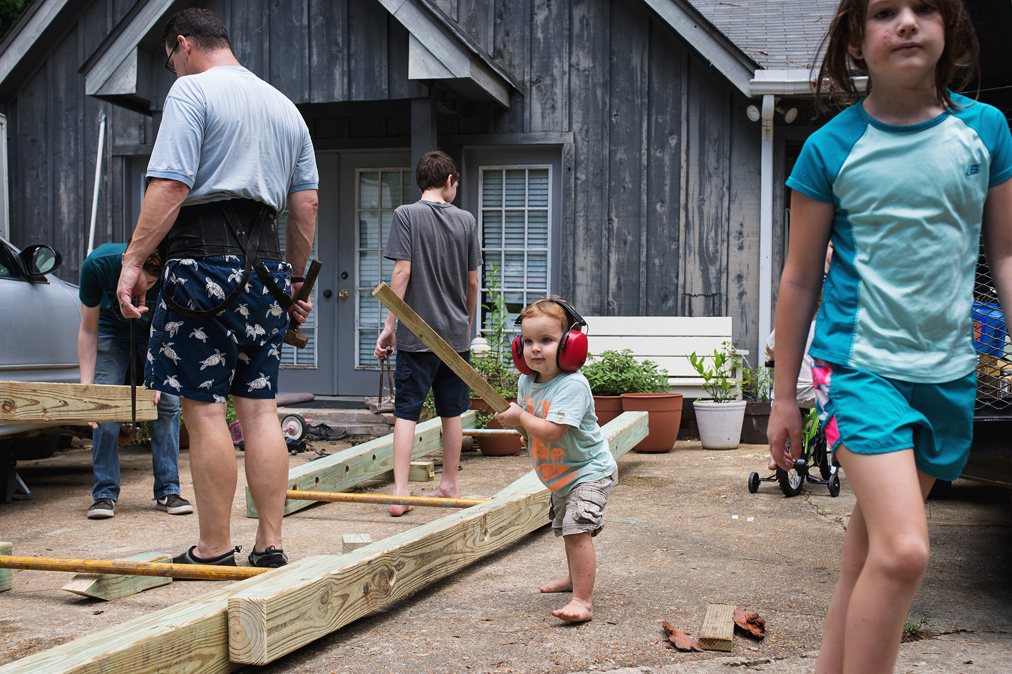
<instances>
[{"instance_id":1,"label":"dark gray t-shirt on the boy facing the house","mask_svg":"<svg viewBox=\"0 0 1012 674\"><path fill-rule=\"evenodd\" d=\"M469 350L468 272L482 264L475 217L452 203L416 201L398 206L384 257L411 262L404 301L454 351ZM397 348L430 350L403 324L397 326Z\"/></svg>"}]
</instances>

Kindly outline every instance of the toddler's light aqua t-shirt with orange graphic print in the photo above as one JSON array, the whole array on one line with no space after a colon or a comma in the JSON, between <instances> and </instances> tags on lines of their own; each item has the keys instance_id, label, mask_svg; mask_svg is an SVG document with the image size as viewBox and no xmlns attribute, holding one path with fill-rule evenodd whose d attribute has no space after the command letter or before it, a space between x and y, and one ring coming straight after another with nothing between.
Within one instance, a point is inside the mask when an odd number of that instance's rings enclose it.
<instances>
[{"instance_id":1,"label":"toddler's light aqua t-shirt with orange graphic print","mask_svg":"<svg viewBox=\"0 0 1012 674\"><path fill-rule=\"evenodd\" d=\"M535 417L569 426L558 442L530 438L534 473L556 495L566 496L577 485L607 478L618 469L597 425L590 383L580 372L562 372L544 384L521 374L516 402Z\"/></svg>"}]
</instances>

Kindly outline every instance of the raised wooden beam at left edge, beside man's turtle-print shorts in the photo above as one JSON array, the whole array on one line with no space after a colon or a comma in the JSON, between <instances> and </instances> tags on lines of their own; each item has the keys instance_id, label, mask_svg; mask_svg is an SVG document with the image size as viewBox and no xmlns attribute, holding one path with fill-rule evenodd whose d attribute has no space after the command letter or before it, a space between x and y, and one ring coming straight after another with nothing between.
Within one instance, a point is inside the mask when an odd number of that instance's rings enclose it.
<instances>
[{"instance_id":1,"label":"raised wooden beam at left edge, beside man's turtle-print shorts","mask_svg":"<svg viewBox=\"0 0 1012 674\"><path fill-rule=\"evenodd\" d=\"M137 420L154 421L157 418L155 392L138 388ZM0 382L0 423L130 420L130 387Z\"/></svg>"}]
</instances>

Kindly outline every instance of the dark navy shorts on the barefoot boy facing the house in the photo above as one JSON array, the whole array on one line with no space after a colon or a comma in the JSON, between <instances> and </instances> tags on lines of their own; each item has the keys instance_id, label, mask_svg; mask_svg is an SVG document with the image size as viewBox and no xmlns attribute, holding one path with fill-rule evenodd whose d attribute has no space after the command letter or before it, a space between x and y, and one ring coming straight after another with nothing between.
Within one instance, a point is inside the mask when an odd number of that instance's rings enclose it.
<instances>
[{"instance_id":1,"label":"dark navy shorts on the barefoot boy facing the house","mask_svg":"<svg viewBox=\"0 0 1012 674\"><path fill-rule=\"evenodd\" d=\"M471 351L457 355L471 362ZM449 365L431 351L397 350L397 371L394 372L394 416L418 421L425 398L432 390L436 416L458 417L471 409L471 388Z\"/></svg>"}]
</instances>

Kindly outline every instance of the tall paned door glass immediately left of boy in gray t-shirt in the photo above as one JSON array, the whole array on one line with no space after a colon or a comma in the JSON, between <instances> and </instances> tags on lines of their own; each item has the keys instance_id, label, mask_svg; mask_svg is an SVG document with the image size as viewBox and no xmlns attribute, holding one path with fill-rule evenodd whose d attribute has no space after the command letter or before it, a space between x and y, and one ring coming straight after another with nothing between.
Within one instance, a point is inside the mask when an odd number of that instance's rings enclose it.
<instances>
[{"instance_id":1,"label":"tall paned door glass immediately left of boy in gray t-shirt","mask_svg":"<svg viewBox=\"0 0 1012 674\"><path fill-rule=\"evenodd\" d=\"M387 308L372 297L381 280L390 282L394 260L383 256L394 209L411 200L411 169L358 169L355 172L355 368L376 369L372 356ZM396 356L392 361L396 364Z\"/></svg>"}]
</instances>

